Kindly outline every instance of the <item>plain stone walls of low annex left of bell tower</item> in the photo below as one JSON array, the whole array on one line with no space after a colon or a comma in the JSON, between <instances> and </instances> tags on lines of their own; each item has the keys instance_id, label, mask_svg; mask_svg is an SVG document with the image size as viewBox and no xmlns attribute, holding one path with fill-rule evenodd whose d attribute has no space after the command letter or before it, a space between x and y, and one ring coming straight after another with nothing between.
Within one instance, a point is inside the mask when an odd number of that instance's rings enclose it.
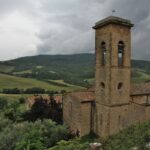
<instances>
[{"instance_id":1,"label":"plain stone walls of low annex left of bell tower","mask_svg":"<svg viewBox=\"0 0 150 150\"><path fill-rule=\"evenodd\" d=\"M80 136L90 133L92 124L91 111L91 102L82 103L71 94L64 96L63 119L73 133L79 131Z\"/></svg>"}]
</instances>

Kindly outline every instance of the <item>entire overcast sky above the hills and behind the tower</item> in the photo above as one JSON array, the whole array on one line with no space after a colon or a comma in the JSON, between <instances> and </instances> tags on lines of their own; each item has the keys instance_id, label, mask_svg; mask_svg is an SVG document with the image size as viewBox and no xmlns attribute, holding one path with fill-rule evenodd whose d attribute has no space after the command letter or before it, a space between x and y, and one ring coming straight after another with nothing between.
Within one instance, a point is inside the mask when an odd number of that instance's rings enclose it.
<instances>
[{"instance_id":1,"label":"entire overcast sky above the hills and behind the tower","mask_svg":"<svg viewBox=\"0 0 150 150\"><path fill-rule=\"evenodd\" d=\"M135 24L132 58L150 60L150 0L0 0L0 61L93 53L92 26L111 15Z\"/></svg>"}]
</instances>

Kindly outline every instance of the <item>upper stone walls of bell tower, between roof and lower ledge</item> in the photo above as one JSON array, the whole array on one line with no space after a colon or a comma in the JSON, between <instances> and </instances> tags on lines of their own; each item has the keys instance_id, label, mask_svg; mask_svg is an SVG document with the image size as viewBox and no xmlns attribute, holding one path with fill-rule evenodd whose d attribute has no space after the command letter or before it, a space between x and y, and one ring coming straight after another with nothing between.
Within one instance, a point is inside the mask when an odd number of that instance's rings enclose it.
<instances>
[{"instance_id":1,"label":"upper stone walls of bell tower, between roof and lower ledge","mask_svg":"<svg viewBox=\"0 0 150 150\"><path fill-rule=\"evenodd\" d=\"M96 30L96 101L104 105L129 103L130 95L130 28L107 25ZM118 42L125 44L124 64L118 67ZM106 43L106 65L102 66L101 42ZM119 83L122 88L118 89Z\"/></svg>"}]
</instances>

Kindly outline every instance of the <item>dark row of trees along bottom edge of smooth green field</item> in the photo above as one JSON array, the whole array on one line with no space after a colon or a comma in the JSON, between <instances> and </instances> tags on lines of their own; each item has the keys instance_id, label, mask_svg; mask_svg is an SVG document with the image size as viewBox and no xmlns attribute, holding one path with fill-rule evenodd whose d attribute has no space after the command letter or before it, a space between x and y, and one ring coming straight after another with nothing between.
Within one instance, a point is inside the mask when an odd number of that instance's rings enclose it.
<instances>
[{"instance_id":1,"label":"dark row of trees along bottom edge of smooth green field","mask_svg":"<svg viewBox=\"0 0 150 150\"><path fill-rule=\"evenodd\" d=\"M64 94L66 91L49 91L43 88L33 87L27 89L19 89L19 88L9 88L3 89L1 93L3 94Z\"/></svg>"}]
</instances>

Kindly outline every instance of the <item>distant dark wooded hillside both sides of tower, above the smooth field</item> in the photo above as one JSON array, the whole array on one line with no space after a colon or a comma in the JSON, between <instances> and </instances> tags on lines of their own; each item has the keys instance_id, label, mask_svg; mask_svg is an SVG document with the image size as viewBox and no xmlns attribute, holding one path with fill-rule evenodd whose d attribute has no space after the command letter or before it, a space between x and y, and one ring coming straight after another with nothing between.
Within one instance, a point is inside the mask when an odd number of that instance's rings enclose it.
<instances>
[{"instance_id":1,"label":"distant dark wooded hillside both sides of tower, above the smooth field","mask_svg":"<svg viewBox=\"0 0 150 150\"><path fill-rule=\"evenodd\" d=\"M94 54L39 55L0 62L0 72L38 80L63 80L88 86L93 84ZM132 60L134 82L150 80L150 61Z\"/></svg>"}]
</instances>

